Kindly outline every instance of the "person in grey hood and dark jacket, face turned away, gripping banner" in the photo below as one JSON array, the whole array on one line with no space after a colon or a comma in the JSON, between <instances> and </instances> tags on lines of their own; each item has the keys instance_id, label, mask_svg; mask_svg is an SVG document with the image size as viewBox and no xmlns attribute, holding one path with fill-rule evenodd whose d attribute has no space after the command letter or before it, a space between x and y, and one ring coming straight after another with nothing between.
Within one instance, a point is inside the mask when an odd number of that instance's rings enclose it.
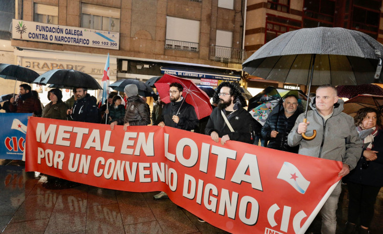
<instances>
[{"instance_id":1,"label":"person in grey hood and dark jacket, face turned away, gripping banner","mask_svg":"<svg viewBox=\"0 0 383 234\"><path fill-rule=\"evenodd\" d=\"M146 109L146 103L140 96L138 96L137 85L128 84L123 89L123 92L127 98L125 117L110 123L110 128L113 130L114 125L123 124L123 130L126 131L128 126L150 124L150 117L148 110Z\"/></svg>"}]
</instances>

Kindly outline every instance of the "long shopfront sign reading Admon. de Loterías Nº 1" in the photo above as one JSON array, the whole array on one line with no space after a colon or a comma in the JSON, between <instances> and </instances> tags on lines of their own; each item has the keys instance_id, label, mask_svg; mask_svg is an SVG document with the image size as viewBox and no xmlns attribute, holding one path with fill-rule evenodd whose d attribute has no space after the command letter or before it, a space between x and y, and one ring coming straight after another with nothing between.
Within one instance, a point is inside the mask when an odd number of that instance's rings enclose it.
<instances>
[{"instance_id":1,"label":"long shopfront sign reading Admon. de Loter\u00edas N\u00ba 1","mask_svg":"<svg viewBox=\"0 0 383 234\"><path fill-rule=\"evenodd\" d=\"M217 79L217 80L225 80L225 81L240 81L241 80L241 76L239 75L223 75L223 74L221 75L221 74L189 71L189 70L182 70L182 69L168 68L168 67L161 67L161 74L169 74L169 75L175 75L175 76L192 76L199 79L207 78L207 79Z\"/></svg>"}]
</instances>

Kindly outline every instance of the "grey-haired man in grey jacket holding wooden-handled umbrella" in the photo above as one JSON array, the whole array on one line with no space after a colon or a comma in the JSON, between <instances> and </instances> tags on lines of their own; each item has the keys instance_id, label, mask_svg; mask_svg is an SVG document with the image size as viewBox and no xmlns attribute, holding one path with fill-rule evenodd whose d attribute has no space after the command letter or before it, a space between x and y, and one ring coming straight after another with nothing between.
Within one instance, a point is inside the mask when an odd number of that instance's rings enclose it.
<instances>
[{"instance_id":1,"label":"grey-haired man in grey jacket holding wooden-handled umbrella","mask_svg":"<svg viewBox=\"0 0 383 234\"><path fill-rule=\"evenodd\" d=\"M307 123L303 122L304 114L301 114L288 134L287 143L291 147L300 145L299 154L343 162L338 173L343 177L356 166L362 153L363 144L354 119L342 112L344 101L338 99L336 88L331 85L319 86L312 101ZM314 139L303 138L302 133L311 136L314 129L317 131ZM335 212L341 192L339 182L321 209L322 234L335 233Z\"/></svg>"}]
</instances>

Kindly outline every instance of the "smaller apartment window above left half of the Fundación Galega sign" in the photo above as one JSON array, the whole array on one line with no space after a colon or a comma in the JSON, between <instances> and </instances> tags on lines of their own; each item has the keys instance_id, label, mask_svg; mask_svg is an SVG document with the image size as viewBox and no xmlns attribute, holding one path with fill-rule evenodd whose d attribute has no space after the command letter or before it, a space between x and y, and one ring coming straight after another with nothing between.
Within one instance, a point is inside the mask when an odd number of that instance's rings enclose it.
<instances>
[{"instance_id":1,"label":"smaller apartment window above left half of the Fundaci\u00f3n Galega sign","mask_svg":"<svg viewBox=\"0 0 383 234\"><path fill-rule=\"evenodd\" d=\"M57 6L34 4L33 20L46 24L58 24L59 8Z\"/></svg>"}]
</instances>

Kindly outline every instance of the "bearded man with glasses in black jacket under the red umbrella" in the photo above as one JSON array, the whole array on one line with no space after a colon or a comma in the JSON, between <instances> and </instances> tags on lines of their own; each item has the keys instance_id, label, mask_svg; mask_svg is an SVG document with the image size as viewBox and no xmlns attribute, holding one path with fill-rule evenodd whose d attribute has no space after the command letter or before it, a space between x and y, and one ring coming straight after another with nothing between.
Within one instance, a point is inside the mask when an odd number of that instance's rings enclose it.
<instances>
[{"instance_id":1,"label":"bearded man with glasses in black jacket under the red umbrella","mask_svg":"<svg viewBox=\"0 0 383 234\"><path fill-rule=\"evenodd\" d=\"M170 103L163 105L161 112L161 120L158 126L175 127L183 130L191 131L198 126L198 117L194 107L185 102L182 97L184 87L177 82L169 85ZM165 192L161 192L153 196L154 200L167 198Z\"/></svg>"}]
</instances>

